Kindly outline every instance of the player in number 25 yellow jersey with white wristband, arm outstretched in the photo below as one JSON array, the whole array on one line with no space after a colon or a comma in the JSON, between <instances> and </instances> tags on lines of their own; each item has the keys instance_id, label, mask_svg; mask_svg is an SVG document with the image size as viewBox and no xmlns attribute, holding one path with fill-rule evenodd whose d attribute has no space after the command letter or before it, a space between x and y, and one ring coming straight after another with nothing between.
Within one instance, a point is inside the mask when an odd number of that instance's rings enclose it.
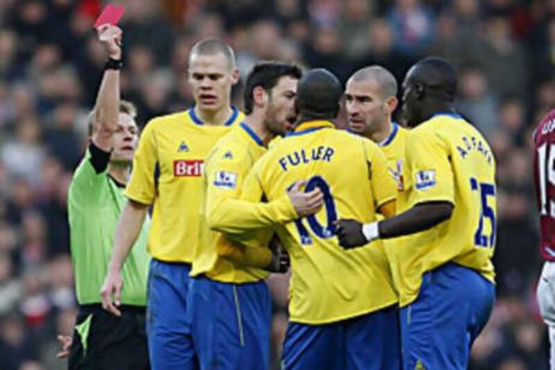
<instances>
[{"instance_id":1,"label":"player in number 25 yellow jersey with white wristband, arm outstretched","mask_svg":"<svg viewBox=\"0 0 555 370\"><path fill-rule=\"evenodd\" d=\"M453 108L456 72L441 58L416 63L403 83L411 208L364 224L341 220L340 243L356 251L379 238L398 243L405 369L466 369L472 342L495 300L495 159ZM372 249L372 245L358 249Z\"/></svg>"}]
</instances>

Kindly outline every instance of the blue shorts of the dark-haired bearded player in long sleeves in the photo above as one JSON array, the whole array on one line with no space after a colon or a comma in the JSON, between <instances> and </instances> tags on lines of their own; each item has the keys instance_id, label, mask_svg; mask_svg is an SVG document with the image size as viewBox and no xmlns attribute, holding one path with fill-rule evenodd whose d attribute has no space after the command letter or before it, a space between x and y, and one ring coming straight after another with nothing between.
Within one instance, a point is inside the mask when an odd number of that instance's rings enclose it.
<instances>
[{"instance_id":1,"label":"blue shorts of the dark-haired bearded player in long sleeves","mask_svg":"<svg viewBox=\"0 0 555 370\"><path fill-rule=\"evenodd\" d=\"M202 369L263 369L270 362L272 303L264 280L191 278L187 316Z\"/></svg>"}]
</instances>

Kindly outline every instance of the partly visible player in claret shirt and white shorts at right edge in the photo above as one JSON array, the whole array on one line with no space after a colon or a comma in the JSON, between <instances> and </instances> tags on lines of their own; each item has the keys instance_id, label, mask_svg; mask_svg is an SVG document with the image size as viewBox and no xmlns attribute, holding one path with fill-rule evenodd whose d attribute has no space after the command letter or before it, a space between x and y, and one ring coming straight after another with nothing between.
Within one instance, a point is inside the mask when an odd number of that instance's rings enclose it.
<instances>
[{"instance_id":1,"label":"partly visible player in claret shirt and white shorts at right edge","mask_svg":"<svg viewBox=\"0 0 555 370\"><path fill-rule=\"evenodd\" d=\"M538 283L538 303L549 330L551 369L555 369L555 110L540 121L533 135L534 180L540 212L540 253L545 259Z\"/></svg>"}]
</instances>

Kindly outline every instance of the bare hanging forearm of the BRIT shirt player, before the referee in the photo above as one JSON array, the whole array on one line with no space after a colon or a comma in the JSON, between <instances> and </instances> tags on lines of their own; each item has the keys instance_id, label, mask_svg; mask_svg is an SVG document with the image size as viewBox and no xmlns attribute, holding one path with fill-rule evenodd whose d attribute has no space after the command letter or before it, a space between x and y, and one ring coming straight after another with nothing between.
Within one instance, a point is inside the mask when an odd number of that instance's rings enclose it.
<instances>
[{"instance_id":1,"label":"bare hanging forearm of the BRIT shirt player, before the referee","mask_svg":"<svg viewBox=\"0 0 555 370\"><path fill-rule=\"evenodd\" d=\"M135 201L128 201L123 207L114 235L110 269L119 270L123 266L142 229L146 210L146 205Z\"/></svg>"}]
</instances>

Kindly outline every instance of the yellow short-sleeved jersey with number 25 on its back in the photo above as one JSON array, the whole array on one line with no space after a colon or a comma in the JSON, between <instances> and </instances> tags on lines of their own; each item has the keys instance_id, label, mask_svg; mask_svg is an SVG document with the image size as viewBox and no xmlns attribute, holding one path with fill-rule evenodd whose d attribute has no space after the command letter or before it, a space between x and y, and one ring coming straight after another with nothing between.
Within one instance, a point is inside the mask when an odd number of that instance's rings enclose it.
<instances>
[{"instance_id":1,"label":"yellow short-sleeved jersey with number 25 on its back","mask_svg":"<svg viewBox=\"0 0 555 370\"><path fill-rule=\"evenodd\" d=\"M448 201L449 220L396 245L393 269L401 307L418 296L422 274L447 262L495 283L495 158L488 142L461 116L434 115L407 137L409 205Z\"/></svg>"}]
</instances>

